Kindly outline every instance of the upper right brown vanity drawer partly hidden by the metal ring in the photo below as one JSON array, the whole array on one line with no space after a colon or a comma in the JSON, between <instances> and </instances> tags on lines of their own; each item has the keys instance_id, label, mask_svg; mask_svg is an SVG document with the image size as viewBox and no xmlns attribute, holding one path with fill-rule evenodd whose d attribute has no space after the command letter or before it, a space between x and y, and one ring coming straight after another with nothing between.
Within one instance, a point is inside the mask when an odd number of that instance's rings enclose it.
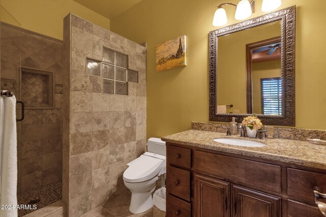
<instances>
[{"instance_id":1,"label":"upper right brown vanity drawer partly hidden by the metal ring","mask_svg":"<svg viewBox=\"0 0 326 217\"><path fill-rule=\"evenodd\" d=\"M296 200L315 204L314 187L326 193L326 174L287 168L287 194Z\"/></svg>"}]
</instances>

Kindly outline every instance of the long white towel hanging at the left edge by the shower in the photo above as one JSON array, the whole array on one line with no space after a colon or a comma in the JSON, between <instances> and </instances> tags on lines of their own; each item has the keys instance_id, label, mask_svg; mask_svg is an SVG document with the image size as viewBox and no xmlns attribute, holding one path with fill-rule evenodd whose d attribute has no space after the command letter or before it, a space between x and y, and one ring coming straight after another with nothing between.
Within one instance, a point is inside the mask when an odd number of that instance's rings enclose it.
<instances>
[{"instance_id":1,"label":"long white towel hanging at the left edge by the shower","mask_svg":"<svg viewBox=\"0 0 326 217\"><path fill-rule=\"evenodd\" d=\"M0 209L0 216L17 214L17 132L16 98L0 97L0 204L14 209Z\"/></svg>"}]
</instances>

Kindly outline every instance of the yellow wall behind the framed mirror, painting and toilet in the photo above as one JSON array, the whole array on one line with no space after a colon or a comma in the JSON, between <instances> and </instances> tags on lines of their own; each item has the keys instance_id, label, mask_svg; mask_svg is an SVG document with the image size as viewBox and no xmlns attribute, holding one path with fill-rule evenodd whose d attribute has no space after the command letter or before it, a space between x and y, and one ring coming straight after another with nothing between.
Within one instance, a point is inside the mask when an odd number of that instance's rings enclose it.
<instances>
[{"instance_id":1,"label":"yellow wall behind the framed mirror, painting and toilet","mask_svg":"<svg viewBox=\"0 0 326 217\"><path fill-rule=\"evenodd\" d=\"M225 1L143 0L111 20L111 30L132 41L147 42L147 137L191 128L208 121L208 32L215 6ZM262 0L256 0L260 16ZM326 1L283 0L296 13L296 128L326 130ZM229 22L235 8L226 6ZM187 66L155 71L155 45L187 36ZM318 97L317 97L318 96Z\"/></svg>"}]
</instances>

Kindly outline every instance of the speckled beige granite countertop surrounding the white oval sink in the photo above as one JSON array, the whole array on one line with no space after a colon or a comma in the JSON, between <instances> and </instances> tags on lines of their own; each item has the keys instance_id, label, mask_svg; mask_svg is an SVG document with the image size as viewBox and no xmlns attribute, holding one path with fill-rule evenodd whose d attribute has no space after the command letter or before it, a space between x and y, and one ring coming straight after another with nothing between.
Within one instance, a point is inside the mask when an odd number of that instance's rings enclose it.
<instances>
[{"instance_id":1,"label":"speckled beige granite countertop surrounding the white oval sink","mask_svg":"<svg viewBox=\"0 0 326 217\"><path fill-rule=\"evenodd\" d=\"M265 147L244 147L213 141L219 138L246 139L265 144ZM162 137L163 141L187 146L206 148L227 153L241 154L271 161L290 163L306 167L326 169L326 146L290 139L241 138L225 133L188 130Z\"/></svg>"}]
</instances>

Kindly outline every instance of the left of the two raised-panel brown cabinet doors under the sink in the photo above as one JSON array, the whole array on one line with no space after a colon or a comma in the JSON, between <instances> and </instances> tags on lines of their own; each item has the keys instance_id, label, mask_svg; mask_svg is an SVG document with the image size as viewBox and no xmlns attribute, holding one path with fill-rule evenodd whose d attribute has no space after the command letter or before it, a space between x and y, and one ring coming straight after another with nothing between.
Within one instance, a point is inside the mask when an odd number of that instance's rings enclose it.
<instances>
[{"instance_id":1,"label":"left of the two raised-panel brown cabinet doors under the sink","mask_svg":"<svg viewBox=\"0 0 326 217\"><path fill-rule=\"evenodd\" d=\"M195 174L197 217L230 216L230 183Z\"/></svg>"}]
</instances>

